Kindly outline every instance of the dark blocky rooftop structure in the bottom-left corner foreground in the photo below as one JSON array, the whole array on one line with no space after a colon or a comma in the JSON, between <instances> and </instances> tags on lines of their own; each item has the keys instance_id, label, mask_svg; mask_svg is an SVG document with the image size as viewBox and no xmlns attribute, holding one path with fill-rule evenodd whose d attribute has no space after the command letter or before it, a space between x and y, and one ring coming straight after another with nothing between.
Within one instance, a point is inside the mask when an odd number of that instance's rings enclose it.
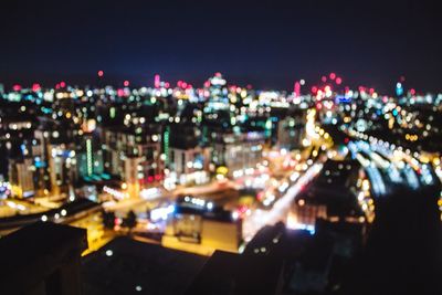
<instances>
[{"instance_id":1,"label":"dark blocky rooftop structure in the bottom-left corner foreground","mask_svg":"<svg viewBox=\"0 0 442 295\"><path fill-rule=\"evenodd\" d=\"M38 222L0 239L0 294L81 294L86 231Z\"/></svg>"}]
</instances>

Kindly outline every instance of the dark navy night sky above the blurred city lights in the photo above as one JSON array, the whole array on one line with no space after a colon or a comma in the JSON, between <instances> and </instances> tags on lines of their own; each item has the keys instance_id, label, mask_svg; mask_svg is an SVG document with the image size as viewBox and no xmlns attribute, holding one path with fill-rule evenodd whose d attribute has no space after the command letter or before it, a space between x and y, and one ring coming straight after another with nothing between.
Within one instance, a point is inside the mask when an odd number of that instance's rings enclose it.
<instances>
[{"instance_id":1,"label":"dark navy night sky above the blurred city lights","mask_svg":"<svg viewBox=\"0 0 442 295\"><path fill-rule=\"evenodd\" d=\"M333 71L351 86L392 92L403 75L442 91L436 2L2 0L0 83L94 84L104 70L108 83L151 85L159 73L199 86L220 71L291 89Z\"/></svg>"}]
</instances>

